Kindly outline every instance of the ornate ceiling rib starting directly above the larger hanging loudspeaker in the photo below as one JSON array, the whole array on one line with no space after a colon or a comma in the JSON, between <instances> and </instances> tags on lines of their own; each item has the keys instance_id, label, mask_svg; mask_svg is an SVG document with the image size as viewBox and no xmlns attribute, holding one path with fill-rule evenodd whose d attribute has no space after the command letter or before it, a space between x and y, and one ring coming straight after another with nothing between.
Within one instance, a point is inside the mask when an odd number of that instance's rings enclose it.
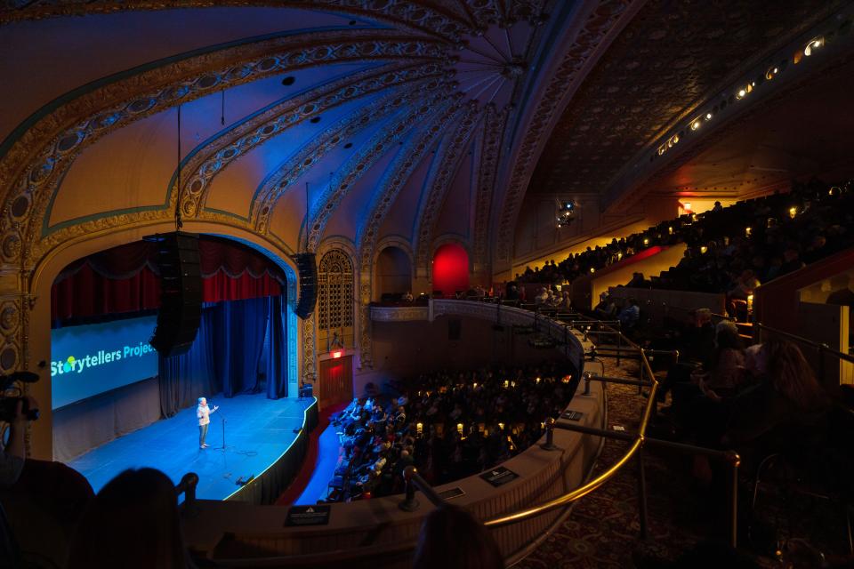
<instances>
[{"instance_id":1,"label":"ornate ceiling rib starting directly above the larger hanging loudspeaker","mask_svg":"<svg viewBox=\"0 0 854 569\"><path fill-rule=\"evenodd\" d=\"M185 159L185 164L181 167L181 180L185 180L181 184L182 215L193 216L197 214L200 204L204 207L207 188L210 188L217 173L222 172L238 157L282 134L295 124L300 124L312 116L320 116L330 108L349 100L438 74L439 66L435 64L393 63L379 69L361 71L284 100L223 132L204 147L197 148L193 156Z\"/></svg>"}]
</instances>

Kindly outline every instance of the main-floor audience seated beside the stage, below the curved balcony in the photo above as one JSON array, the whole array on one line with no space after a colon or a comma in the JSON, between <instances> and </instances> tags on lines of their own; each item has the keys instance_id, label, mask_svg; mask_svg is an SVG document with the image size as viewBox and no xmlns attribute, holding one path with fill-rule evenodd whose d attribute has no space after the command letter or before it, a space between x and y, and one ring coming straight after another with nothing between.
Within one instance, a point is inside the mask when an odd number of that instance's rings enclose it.
<instances>
[{"instance_id":1,"label":"main-floor audience seated beside the stage, below the curved balcony","mask_svg":"<svg viewBox=\"0 0 854 569\"><path fill-rule=\"evenodd\" d=\"M577 381L555 363L439 371L400 382L399 397L354 399L334 418L341 454L326 501L400 493L410 465L439 485L506 461L543 436Z\"/></svg>"}]
</instances>

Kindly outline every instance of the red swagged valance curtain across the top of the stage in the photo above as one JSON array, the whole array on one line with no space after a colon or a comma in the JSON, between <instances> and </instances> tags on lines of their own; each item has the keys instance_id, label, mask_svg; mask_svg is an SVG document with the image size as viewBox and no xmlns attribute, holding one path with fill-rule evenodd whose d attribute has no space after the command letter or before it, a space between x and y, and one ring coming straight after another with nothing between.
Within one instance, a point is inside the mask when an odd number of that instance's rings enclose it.
<instances>
[{"instance_id":1,"label":"red swagged valance curtain across the top of the stage","mask_svg":"<svg viewBox=\"0 0 854 569\"><path fill-rule=\"evenodd\" d=\"M285 276L260 252L213 237L200 238L198 248L205 302L281 294ZM69 264L53 282L52 321L159 308L160 277L154 260L151 244L138 242Z\"/></svg>"}]
</instances>

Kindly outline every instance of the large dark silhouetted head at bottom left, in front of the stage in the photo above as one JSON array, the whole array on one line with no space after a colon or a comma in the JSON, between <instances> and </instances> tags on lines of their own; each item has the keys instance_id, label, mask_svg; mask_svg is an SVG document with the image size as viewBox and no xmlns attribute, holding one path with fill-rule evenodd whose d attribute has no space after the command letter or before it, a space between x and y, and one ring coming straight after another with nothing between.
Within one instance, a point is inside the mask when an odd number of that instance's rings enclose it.
<instances>
[{"instance_id":1,"label":"large dark silhouetted head at bottom left, in front of the stage","mask_svg":"<svg viewBox=\"0 0 854 569\"><path fill-rule=\"evenodd\" d=\"M191 567L175 487L156 469L125 470L85 510L68 569Z\"/></svg>"}]
</instances>

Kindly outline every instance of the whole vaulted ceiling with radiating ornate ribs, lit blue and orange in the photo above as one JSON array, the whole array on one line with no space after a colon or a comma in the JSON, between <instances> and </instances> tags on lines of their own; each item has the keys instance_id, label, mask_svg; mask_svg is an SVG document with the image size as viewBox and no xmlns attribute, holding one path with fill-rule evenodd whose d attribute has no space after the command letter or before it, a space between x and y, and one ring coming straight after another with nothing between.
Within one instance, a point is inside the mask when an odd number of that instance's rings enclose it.
<instances>
[{"instance_id":1,"label":"whole vaulted ceiling with radiating ornate ribs, lit blue and orange","mask_svg":"<svg viewBox=\"0 0 854 569\"><path fill-rule=\"evenodd\" d=\"M0 12L5 263L177 208L286 253L395 242L424 275L455 239L496 270L526 194L606 192L845 3L208 4Z\"/></svg>"}]
</instances>

